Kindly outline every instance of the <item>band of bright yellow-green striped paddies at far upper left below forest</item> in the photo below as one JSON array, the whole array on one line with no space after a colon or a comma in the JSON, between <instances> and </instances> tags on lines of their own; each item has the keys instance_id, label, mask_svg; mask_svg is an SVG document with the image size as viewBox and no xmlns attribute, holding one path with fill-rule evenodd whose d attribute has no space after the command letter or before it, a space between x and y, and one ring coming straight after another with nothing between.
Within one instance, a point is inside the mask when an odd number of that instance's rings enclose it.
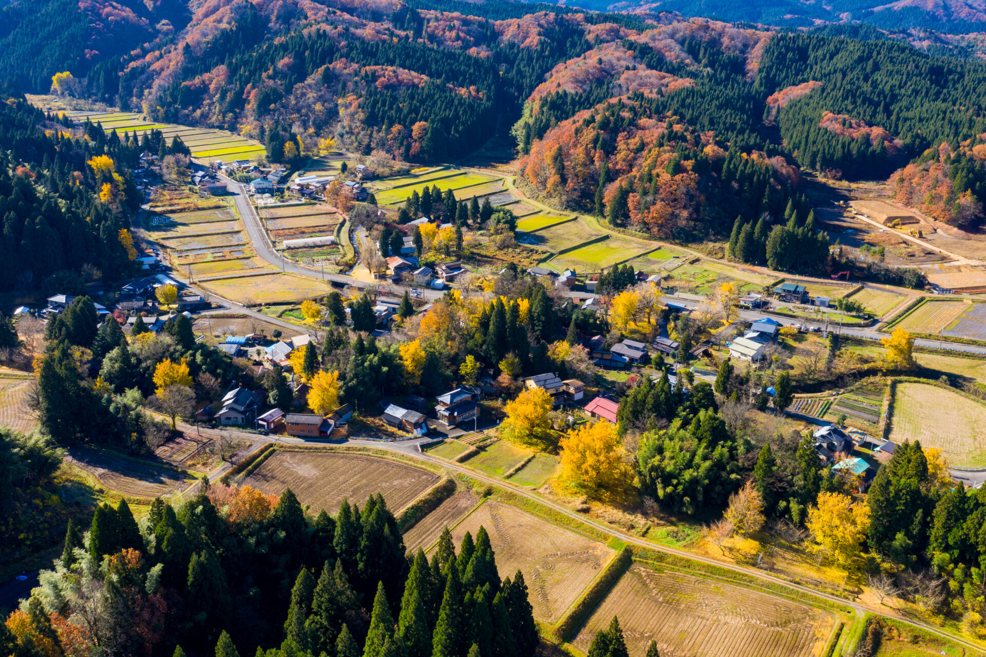
<instances>
[{"instance_id":1,"label":"band of bright yellow-green striped paddies at far upper left below forest","mask_svg":"<svg viewBox=\"0 0 986 657\"><path fill-rule=\"evenodd\" d=\"M93 122L100 123L107 132L115 129L119 133L135 133L139 136L150 130L161 130L169 139L174 136L179 137L188 146L194 158L256 160L265 152L260 142L231 132L155 123L144 120L135 112L69 111L66 113L75 120L85 120L88 117Z\"/></svg>"}]
</instances>

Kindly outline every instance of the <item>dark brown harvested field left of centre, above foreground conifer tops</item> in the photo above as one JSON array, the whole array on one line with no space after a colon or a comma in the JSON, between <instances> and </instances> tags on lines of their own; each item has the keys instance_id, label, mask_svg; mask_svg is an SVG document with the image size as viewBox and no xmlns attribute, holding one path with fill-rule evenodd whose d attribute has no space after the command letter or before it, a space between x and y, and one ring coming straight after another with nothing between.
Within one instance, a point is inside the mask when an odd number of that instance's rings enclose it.
<instances>
[{"instance_id":1,"label":"dark brown harvested field left of centre, above foreground conifer tops","mask_svg":"<svg viewBox=\"0 0 986 657\"><path fill-rule=\"evenodd\" d=\"M311 512L335 514L343 499L363 506L383 493L393 513L438 483L438 474L389 459L362 454L279 451L244 480L265 493L291 488Z\"/></svg>"}]
</instances>

